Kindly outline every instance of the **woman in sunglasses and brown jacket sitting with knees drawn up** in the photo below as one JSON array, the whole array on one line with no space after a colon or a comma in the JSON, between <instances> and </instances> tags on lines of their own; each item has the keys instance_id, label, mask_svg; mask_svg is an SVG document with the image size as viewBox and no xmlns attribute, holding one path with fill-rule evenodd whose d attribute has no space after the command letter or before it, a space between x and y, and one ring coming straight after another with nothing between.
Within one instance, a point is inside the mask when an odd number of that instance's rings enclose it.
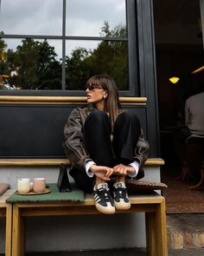
<instances>
[{"instance_id":1,"label":"woman in sunglasses and brown jacket sitting with knees drawn up","mask_svg":"<svg viewBox=\"0 0 204 256\"><path fill-rule=\"evenodd\" d=\"M92 193L101 213L129 209L126 177L136 177L147 158L149 144L136 115L124 111L118 89L108 75L86 82L87 108L74 108L64 128L63 148L73 168L76 186ZM116 180L112 194L108 186Z\"/></svg>"}]
</instances>

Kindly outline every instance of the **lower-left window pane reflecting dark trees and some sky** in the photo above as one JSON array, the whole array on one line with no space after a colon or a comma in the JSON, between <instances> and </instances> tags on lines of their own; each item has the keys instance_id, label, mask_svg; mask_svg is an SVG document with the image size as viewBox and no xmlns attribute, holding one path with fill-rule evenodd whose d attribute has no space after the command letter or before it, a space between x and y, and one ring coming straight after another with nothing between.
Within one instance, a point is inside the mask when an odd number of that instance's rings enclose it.
<instances>
[{"instance_id":1,"label":"lower-left window pane reflecting dark trees and some sky","mask_svg":"<svg viewBox=\"0 0 204 256\"><path fill-rule=\"evenodd\" d=\"M61 41L0 39L0 89L61 89Z\"/></svg>"}]
</instances>

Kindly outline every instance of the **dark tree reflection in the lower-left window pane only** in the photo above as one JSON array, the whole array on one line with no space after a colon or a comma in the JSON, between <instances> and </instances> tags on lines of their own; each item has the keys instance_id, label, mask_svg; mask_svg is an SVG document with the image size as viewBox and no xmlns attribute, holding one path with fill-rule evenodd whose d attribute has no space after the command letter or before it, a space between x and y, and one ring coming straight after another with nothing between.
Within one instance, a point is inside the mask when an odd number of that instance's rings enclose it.
<instances>
[{"instance_id":1,"label":"dark tree reflection in the lower-left window pane only","mask_svg":"<svg viewBox=\"0 0 204 256\"><path fill-rule=\"evenodd\" d=\"M48 42L22 40L14 51L8 49L4 69L10 86L21 89L61 89L61 63L55 60L54 47Z\"/></svg>"}]
</instances>

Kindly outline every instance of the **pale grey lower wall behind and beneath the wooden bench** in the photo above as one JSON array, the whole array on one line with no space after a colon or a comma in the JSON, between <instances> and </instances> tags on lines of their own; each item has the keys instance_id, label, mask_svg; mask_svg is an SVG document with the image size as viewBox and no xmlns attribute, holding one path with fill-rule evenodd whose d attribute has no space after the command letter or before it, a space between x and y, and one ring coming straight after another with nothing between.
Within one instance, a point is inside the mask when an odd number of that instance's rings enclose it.
<instances>
[{"instance_id":1,"label":"pale grey lower wall behind and beneath the wooden bench","mask_svg":"<svg viewBox=\"0 0 204 256\"><path fill-rule=\"evenodd\" d=\"M56 167L1 167L0 182L16 188L20 177L46 177L56 182ZM147 181L160 181L159 167L145 167ZM26 251L145 247L144 214L33 217L26 220ZM0 220L0 253L4 252L4 220Z\"/></svg>"}]
</instances>

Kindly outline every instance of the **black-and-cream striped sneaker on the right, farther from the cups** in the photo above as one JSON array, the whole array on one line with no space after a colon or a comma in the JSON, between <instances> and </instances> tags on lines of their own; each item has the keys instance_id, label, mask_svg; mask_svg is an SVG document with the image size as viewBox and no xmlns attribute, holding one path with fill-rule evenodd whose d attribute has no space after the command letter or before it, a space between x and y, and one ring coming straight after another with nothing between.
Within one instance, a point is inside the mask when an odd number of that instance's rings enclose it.
<instances>
[{"instance_id":1,"label":"black-and-cream striped sneaker on the right, farther from the cups","mask_svg":"<svg viewBox=\"0 0 204 256\"><path fill-rule=\"evenodd\" d=\"M131 208L131 201L128 198L127 189L124 182L114 183L112 193L115 207L118 210L127 210Z\"/></svg>"}]
</instances>

